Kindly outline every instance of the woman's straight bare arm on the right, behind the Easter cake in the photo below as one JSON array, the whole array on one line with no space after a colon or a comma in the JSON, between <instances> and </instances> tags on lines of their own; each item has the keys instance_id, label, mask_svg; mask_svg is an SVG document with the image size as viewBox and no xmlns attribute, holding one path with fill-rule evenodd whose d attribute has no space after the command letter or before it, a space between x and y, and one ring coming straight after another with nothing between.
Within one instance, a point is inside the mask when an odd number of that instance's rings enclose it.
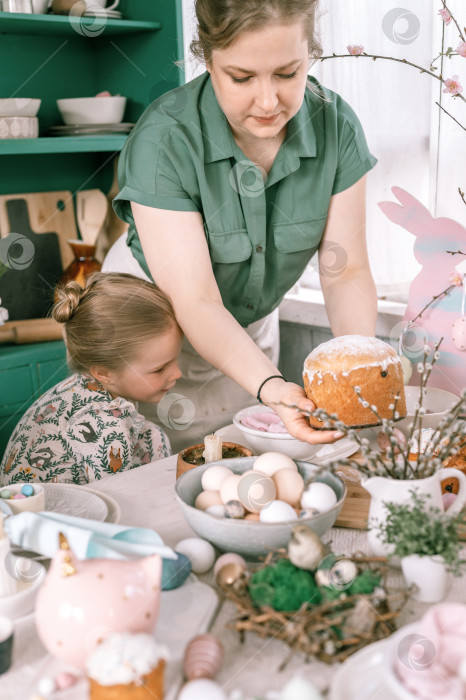
<instances>
[{"instance_id":1,"label":"woman's straight bare arm on the right, behind the Easter cake","mask_svg":"<svg viewBox=\"0 0 466 700\"><path fill-rule=\"evenodd\" d=\"M375 335L377 294L366 246L366 177L333 195L319 271L335 336Z\"/></svg>"}]
</instances>

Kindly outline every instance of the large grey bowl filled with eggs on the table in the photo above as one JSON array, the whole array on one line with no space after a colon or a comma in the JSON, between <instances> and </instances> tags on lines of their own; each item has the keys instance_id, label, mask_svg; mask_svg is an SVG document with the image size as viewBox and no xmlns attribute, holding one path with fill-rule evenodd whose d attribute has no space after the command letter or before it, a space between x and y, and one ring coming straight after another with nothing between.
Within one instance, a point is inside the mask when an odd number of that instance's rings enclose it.
<instances>
[{"instance_id":1,"label":"large grey bowl filled with eggs on the table","mask_svg":"<svg viewBox=\"0 0 466 700\"><path fill-rule=\"evenodd\" d=\"M345 494L335 474L280 452L205 464L175 485L175 498L199 537L249 558L287 547L297 524L324 535Z\"/></svg>"}]
</instances>

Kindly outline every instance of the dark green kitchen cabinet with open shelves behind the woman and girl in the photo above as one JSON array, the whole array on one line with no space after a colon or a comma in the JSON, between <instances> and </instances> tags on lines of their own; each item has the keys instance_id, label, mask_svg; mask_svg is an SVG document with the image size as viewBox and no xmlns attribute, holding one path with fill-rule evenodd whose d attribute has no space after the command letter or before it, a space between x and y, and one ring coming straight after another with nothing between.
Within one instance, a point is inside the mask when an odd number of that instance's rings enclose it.
<instances>
[{"instance_id":1,"label":"dark green kitchen cabinet with open shelves behind the woman and girl","mask_svg":"<svg viewBox=\"0 0 466 700\"><path fill-rule=\"evenodd\" d=\"M120 0L118 9L124 19L0 12L0 98L42 100L39 138L0 139L0 195L108 192L127 136L48 136L62 124L56 100L108 90L127 97L124 121L136 122L184 82L181 0ZM66 374L61 341L0 347L0 456L26 408Z\"/></svg>"}]
</instances>

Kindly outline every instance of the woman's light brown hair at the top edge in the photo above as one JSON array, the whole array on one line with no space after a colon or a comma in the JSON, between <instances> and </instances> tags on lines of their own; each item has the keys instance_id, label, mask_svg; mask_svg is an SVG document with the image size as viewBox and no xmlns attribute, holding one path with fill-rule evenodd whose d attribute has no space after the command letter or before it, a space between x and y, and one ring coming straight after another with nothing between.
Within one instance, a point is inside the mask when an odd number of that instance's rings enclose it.
<instances>
[{"instance_id":1,"label":"woman's light brown hair at the top edge","mask_svg":"<svg viewBox=\"0 0 466 700\"><path fill-rule=\"evenodd\" d=\"M209 63L212 51L225 49L242 32L260 29L271 22L302 21L309 40L309 56L322 55L315 20L319 0L196 0L198 36L191 51Z\"/></svg>"}]
</instances>

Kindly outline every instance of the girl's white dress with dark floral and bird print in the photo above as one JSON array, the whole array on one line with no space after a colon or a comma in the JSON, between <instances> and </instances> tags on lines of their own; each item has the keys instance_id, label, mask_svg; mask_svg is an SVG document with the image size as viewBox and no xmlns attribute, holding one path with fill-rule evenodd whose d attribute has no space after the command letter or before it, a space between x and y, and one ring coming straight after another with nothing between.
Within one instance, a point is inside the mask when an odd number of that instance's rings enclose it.
<instances>
[{"instance_id":1,"label":"girl's white dress with dark floral and bird print","mask_svg":"<svg viewBox=\"0 0 466 700\"><path fill-rule=\"evenodd\" d=\"M0 484L87 484L171 454L165 433L133 403L73 374L27 410L8 442Z\"/></svg>"}]
</instances>

